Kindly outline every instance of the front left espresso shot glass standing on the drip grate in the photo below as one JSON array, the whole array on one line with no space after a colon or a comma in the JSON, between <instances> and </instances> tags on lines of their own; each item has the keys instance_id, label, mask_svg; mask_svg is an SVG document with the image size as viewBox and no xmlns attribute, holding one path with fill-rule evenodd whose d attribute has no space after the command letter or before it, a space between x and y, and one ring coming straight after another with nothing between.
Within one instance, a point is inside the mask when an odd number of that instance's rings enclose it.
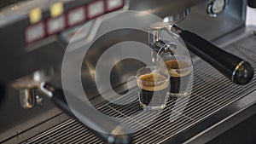
<instances>
[{"instance_id":1,"label":"front left espresso shot glass standing on the drip grate","mask_svg":"<svg viewBox=\"0 0 256 144\"><path fill-rule=\"evenodd\" d=\"M168 100L170 76L165 69L145 66L137 71L140 107L144 111L163 110Z\"/></svg>"}]
</instances>

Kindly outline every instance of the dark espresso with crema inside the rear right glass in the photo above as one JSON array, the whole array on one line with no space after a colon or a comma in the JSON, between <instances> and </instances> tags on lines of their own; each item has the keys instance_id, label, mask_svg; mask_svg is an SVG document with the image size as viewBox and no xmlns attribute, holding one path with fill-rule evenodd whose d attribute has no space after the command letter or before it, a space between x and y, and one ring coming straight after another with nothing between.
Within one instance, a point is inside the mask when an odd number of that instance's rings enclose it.
<instances>
[{"instance_id":1,"label":"dark espresso with crema inside the rear right glass","mask_svg":"<svg viewBox=\"0 0 256 144\"><path fill-rule=\"evenodd\" d=\"M175 94L185 92L187 90L191 74L189 63L183 60L167 60L166 66L170 74L170 93ZM181 70L179 71L178 69Z\"/></svg>"}]
</instances>

